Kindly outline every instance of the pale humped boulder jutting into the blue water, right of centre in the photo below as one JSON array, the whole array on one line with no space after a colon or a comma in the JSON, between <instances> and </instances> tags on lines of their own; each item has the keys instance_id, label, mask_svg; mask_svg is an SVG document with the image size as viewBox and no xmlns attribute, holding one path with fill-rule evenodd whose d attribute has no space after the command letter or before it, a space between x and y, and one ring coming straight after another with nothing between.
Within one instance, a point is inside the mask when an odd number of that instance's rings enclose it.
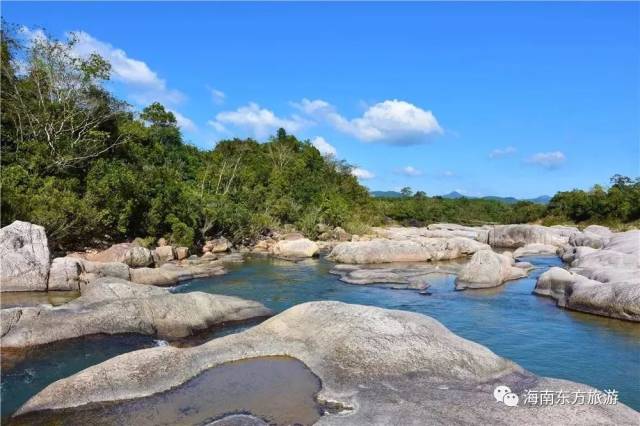
<instances>
[{"instance_id":1,"label":"pale humped boulder jutting into the blue water, right of centre","mask_svg":"<svg viewBox=\"0 0 640 426\"><path fill-rule=\"evenodd\" d=\"M527 265L514 266L513 258L492 250L480 250L456 278L456 290L497 287L505 281L526 277Z\"/></svg>"}]
</instances>

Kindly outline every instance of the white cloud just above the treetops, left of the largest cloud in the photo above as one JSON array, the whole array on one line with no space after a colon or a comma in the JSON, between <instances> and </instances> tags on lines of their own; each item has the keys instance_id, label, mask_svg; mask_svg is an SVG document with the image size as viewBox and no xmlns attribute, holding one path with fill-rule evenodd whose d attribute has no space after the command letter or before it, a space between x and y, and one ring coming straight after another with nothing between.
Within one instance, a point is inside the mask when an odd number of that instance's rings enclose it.
<instances>
[{"instance_id":1,"label":"white cloud just above the treetops, left of the largest cloud","mask_svg":"<svg viewBox=\"0 0 640 426\"><path fill-rule=\"evenodd\" d=\"M223 111L216 115L215 120L209 121L214 128L228 125L248 131L258 139L265 138L282 127L289 133L296 133L308 122L303 118L293 115L290 118L281 118L273 111L261 108L255 102L250 102L235 111Z\"/></svg>"}]
</instances>

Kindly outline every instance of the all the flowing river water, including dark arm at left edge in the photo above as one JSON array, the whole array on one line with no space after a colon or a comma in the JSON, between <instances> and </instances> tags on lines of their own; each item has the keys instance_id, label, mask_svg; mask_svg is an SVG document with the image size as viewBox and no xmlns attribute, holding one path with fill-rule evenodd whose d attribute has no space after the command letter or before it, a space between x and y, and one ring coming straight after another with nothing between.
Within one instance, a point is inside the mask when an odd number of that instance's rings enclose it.
<instances>
[{"instance_id":1,"label":"all the flowing river water, including dark arm at left edge","mask_svg":"<svg viewBox=\"0 0 640 426\"><path fill-rule=\"evenodd\" d=\"M537 276L561 261L556 257L526 260L537 267L529 277L494 289L454 291L453 276L434 275L428 296L414 290L342 283L329 274L333 264L324 259L298 263L249 259L229 266L227 275L192 280L173 291L239 296L276 312L308 301L339 300L422 313L529 371L600 390L615 389L622 402L640 410L640 325L563 310L555 301L531 294ZM250 325L214 329L174 344L199 344ZM150 338L109 336L48 345L12 362L5 361L3 353L2 416L6 418L48 383L154 344Z\"/></svg>"}]
</instances>

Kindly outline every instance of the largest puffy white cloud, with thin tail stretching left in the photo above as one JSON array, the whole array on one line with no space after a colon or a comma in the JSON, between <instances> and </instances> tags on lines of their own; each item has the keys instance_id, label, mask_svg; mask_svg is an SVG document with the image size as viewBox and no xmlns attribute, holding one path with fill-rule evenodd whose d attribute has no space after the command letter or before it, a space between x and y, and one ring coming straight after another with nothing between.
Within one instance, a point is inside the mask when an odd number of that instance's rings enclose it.
<instances>
[{"instance_id":1,"label":"largest puffy white cloud, with thin tail stretching left","mask_svg":"<svg viewBox=\"0 0 640 426\"><path fill-rule=\"evenodd\" d=\"M362 117L347 119L327 101L303 99L293 105L305 114L323 120L343 133L364 142L413 145L441 134L442 128L431 111L397 99L370 106Z\"/></svg>"}]
</instances>

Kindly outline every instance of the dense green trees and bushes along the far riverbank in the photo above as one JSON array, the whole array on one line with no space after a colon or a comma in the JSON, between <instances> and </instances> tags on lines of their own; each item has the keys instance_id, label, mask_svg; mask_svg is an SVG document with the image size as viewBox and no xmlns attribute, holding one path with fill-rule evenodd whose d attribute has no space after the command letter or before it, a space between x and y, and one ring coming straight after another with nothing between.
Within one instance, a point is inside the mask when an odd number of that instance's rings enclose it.
<instances>
[{"instance_id":1,"label":"dense green trees and bushes along the far riverbank","mask_svg":"<svg viewBox=\"0 0 640 426\"><path fill-rule=\"evenodd\" d=\"M640 218L640 182L614 177L609 189L561 192L548 206L448 200L422 192L375 199L344 161L322 156L280 129L264 143L218 142L199 149L173 113L140 113L104 86L110 65L74 54L74 39L20 43L2 32L2 226L47 229L56 249L136 237L193 246L218 235L249 242L317 224L351 233L402 224L521 222L628 223Z\"/></svg>"}]
</instances>

